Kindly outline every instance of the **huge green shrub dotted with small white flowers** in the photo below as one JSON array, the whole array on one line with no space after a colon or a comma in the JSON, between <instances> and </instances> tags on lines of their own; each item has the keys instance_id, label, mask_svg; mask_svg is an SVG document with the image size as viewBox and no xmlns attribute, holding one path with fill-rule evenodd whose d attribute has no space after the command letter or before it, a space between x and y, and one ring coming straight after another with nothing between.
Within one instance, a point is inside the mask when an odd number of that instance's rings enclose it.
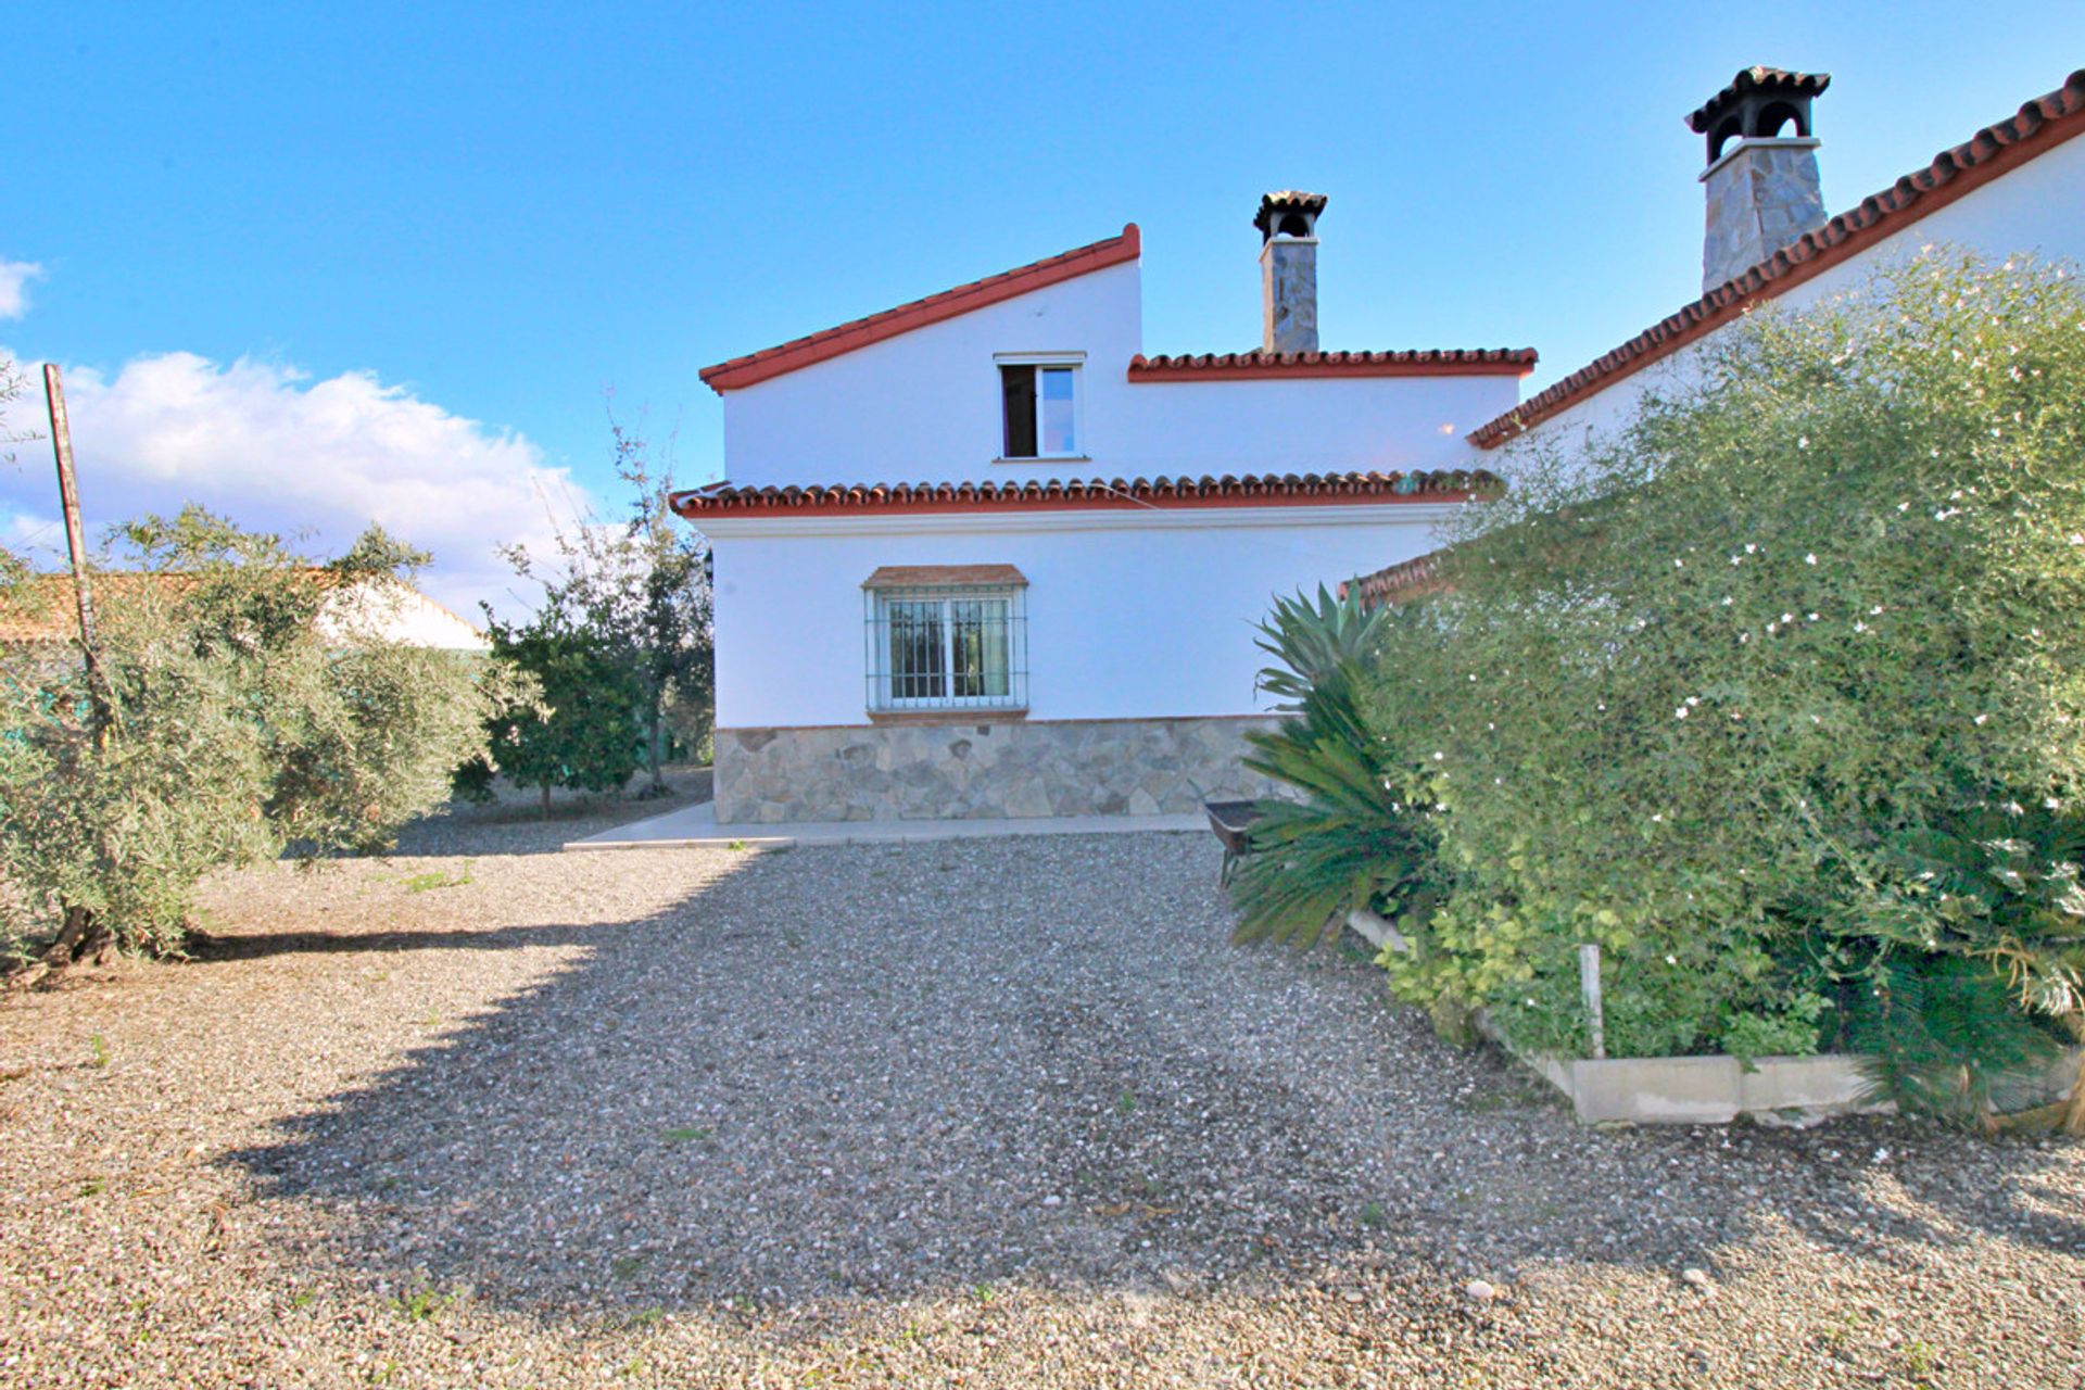
<instances>
[{"instance_id":1,"label":"huge green shrub dotted with small white flowers","mask_svg":"<svg viewBox=\"0 0 2085 1390\"><path fill-rule=\"evenodd\" d=\"M2085 296L1929 252L1695 367L1510 448L1380 625L1364 711L1453 882L1395 988L1572 1052L1597 942L1610 1050L1801 1052L1947 957L2077 1025L2070 840L2006 827L2085 794Z\"/></svg>"}]
</instances>

